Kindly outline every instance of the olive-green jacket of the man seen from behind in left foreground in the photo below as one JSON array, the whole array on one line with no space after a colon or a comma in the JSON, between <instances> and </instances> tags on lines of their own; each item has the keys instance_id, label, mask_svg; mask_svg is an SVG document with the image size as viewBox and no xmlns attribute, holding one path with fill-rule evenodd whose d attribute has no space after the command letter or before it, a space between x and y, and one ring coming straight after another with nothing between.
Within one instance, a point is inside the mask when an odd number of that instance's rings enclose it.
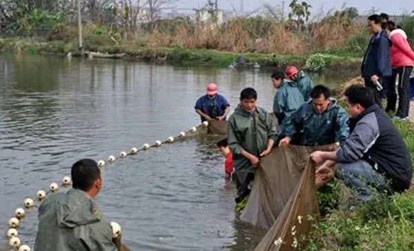
<instances>
[{"instance_id":1,"label":"olive-green jacket of the man seen from behind in left foreground","mask_svg":"<svg viewBox=\"0 0 414 251\"><path fill-rule=\"evenodd\" d=\"M117 250L110 223L81 190L51 194L39 207L35 251Z\"/></svg>"}]
</instances>

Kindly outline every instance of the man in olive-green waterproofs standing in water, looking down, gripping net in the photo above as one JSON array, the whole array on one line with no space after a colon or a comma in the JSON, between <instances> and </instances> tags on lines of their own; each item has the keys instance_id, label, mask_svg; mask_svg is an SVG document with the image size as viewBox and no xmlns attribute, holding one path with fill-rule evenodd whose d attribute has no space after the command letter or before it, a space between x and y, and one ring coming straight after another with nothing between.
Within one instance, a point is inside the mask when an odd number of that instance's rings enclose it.
<instances>
[{"instance_id":1,"label":"man in olive-green waterproofs standing in water, looking down, gripping net","mask_svg":"<svg viewBox=\"0 0 414 251\"><path fill-rule=\"evenodd\" d=\"M259 158L272 151L277 139L275 119L263 108L256 106L257 92L246 88L240 94L240 104L228 119L228 146L233 152L233 166L237 185L236 203L250 193L248 185L255 177L254 168Z\"/></svg>"}]
</instances>

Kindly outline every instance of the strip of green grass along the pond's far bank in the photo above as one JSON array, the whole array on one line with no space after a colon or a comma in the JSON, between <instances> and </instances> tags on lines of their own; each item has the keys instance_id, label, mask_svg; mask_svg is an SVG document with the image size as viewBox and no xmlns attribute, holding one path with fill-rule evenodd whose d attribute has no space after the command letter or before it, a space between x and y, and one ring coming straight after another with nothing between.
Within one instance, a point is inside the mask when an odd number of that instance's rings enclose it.
<instances>
[{"instance_id":1,"label":"strip of green grass along the pond's far bank","mask_svg":"<svg viewBox=\"0 0 414 251\"><path fill-rule=\"evenodd\" d=\"M127 59L138 59L146 61L166 61L177 66L213 66L227 67L231 63L235 64L239 57L246 59L246 66L259 63L264 67L283 68L287 65L295 65L301 68L306 67L306 63L315 58L315 54L262 54L262 53L233 53L221 52L218 50L207 49L186 49L175 48L151 48L142 46L105 46L89 44L86 50L108 53L125 53ZM41 39L12 38L0 39L1 52L16 52L41 54L52 53L66 55L76 50L75 43L65 41L42 41ZM359 64L361 58L353 52L325 52L321 59L316 56L315 67L322 64L322 68L338 68ZM308 63L309 64L309 63ZM312 65L314 66L314 65ZM317 69L317 70L321 70ZM315 70L315 69L310 69Z\"/></svg>"}]
</instances>

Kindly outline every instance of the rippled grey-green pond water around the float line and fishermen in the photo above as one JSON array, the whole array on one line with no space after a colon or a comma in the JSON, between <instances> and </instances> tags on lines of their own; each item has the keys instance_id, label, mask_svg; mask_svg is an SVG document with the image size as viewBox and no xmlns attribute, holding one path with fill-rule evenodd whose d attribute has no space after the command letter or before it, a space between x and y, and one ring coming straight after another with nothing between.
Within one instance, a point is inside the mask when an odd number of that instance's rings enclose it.
<instances>
[{"instance_id":1,"label":"rippled grey-green pond water around the float line and fishermen","mask_svg":"<svg viewBox=\"0 0 414 251\"><path fill-rule=\"evenodd\" d=\"M345 73L346 72L346 73ZM349 70L312 76L336 87ZM353 70L355 72L355 70ZM266 70L178 68L136 61L0 56L0 226L81 158L108 159L199 124L195 101L217 81L232 110L252 86L271 110ZM96 201L132 250L252 250L263 232L237 219L217 137L190 137L103 169ZM37 212L20 229L34 245ZM1 232L1 230L0 230ZM3 235L4 236L4 235ZM0 244L6 238L0 239Z\"/></svg>"}]
</instances>

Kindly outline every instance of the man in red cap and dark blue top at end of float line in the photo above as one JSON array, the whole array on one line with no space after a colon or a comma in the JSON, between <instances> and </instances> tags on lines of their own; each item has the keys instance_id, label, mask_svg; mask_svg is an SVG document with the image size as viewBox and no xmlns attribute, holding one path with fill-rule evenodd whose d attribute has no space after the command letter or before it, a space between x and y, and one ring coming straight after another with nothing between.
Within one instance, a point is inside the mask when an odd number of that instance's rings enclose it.
<instances>
[{"instance_id":1,"label":"man in red cap and dark blue top at end of float line","mask_svg":"<svg viewBox=\"0 0 414 251\"><path fill-rule=\"evenodd\" d=\"M226 120L228 112L230 112L230 104L225 97L217 92L217 84L209 83L207 94L195 103L195 112L200 115L201 122L213 119Z\"/></svg>"}]
</instances>

